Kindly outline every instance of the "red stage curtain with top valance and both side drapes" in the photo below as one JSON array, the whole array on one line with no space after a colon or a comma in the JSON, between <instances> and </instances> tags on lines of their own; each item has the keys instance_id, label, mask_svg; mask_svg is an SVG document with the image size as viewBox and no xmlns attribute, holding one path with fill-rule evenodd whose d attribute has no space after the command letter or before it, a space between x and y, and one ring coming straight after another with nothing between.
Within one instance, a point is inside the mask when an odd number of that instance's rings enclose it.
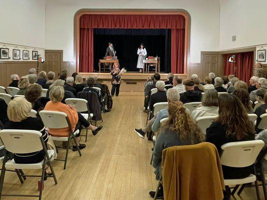
<instances>
[{"instance_id":1,"label":"red stage curtain with top valance and both side drapes","mask_svg":"<svg viewBox=\"0 0 267 200\"><path fill-rule=\"evenodd\" d=\"M184 71L184 28L182 15L127 15L127 14L84 14L80 18L80 72L94 70L94 29L170 29L171 72ZM136 45L136 44L131 44ZM116 46L115 46L116 47ZM135 47L136 48L136 47Z\"/></svg>"}]
</instances>

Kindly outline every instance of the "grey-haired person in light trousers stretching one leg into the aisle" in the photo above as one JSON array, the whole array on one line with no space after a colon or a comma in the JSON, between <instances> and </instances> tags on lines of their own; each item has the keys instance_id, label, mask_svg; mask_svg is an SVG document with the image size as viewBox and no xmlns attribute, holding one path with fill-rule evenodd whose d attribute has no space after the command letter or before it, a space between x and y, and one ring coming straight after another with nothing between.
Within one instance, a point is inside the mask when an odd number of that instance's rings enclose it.
<instances>
[{"instance_id":1,"label":"grey-haired person in light trousers stretching one leg into the aisle","mask_svg":"<svg viewBox=\"0 0 267 200\"><path fill-rule=\"evenodd\" d=\"M179 92L177 89L170 88L166 92L168 103L172 101L178 101L180 99ZM150 132L153 130L153 132L156 132L160 125L160 120L168 117L168 109L162 109L156 115L154 115L146 124L146 127L137 129L135 128L134 131L142 138L145 137L146 132ZM154 127L154 129L152 128Z\"/></svg>"}]
</instances>

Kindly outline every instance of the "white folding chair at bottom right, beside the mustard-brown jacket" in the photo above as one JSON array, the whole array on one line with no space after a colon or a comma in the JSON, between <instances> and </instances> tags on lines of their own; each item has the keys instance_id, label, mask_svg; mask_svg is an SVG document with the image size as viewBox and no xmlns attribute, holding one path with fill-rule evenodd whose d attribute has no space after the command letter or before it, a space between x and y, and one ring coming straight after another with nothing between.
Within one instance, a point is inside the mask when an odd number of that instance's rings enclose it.
<instances>
[{"instance_id":1,"label":"white folding chair at bottom right, beside the mustard-brown jacket","mask_svg":"<svg viewBox=\"0 0 267 200\"><path fill-rule=\"evenodd\" d=\"M225 143L221 145L221 149L223 150L220 156L221 164L229 167L246 167L253 165L263 146L264 142L262 140ZM255 165L254 174L256 174ZM234 189L231 192L233 195L240 184L255 182L257 199L260 199L257 179L254 174L251 173L245 178L224 179L224 184L235 185ZM239 191L238 194L240 194Z\"/></svg>"}]
</instances>

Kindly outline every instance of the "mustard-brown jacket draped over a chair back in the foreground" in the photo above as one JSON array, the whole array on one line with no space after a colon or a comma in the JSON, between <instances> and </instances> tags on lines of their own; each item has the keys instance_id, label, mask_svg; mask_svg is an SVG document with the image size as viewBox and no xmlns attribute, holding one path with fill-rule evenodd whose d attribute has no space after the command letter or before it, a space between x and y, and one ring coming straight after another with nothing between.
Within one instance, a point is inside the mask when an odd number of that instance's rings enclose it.
<instances>
[{"instance_id":1,"label":"mustard-brown jacket draped over a chair back in the foreground","mask_svg":"<svg viewBox=\"0 0 267 200\"><path fill-rule=\"evenodd\" d=\"M209 142L163 150L164 200L221 200L224 187L220 157Z\"/></svg>"}]
</instances>

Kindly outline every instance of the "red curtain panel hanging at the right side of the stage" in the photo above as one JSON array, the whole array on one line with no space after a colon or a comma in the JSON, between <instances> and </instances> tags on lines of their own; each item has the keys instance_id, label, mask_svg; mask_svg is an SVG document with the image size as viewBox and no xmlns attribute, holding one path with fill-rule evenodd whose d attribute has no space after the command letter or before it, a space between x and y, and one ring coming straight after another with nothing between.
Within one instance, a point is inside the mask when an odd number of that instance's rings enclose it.
<instances>
[{"instance_id":1,"label":"red curtain panel hanging at the right side of the stage","mask_svg":"<svg viewBox=\"0 0 267 200\"><path fill-rule=\"evenodd\" d=\"M171 72L184 71L184 29L171 29Z\"/></svg>"}]
</instances>

